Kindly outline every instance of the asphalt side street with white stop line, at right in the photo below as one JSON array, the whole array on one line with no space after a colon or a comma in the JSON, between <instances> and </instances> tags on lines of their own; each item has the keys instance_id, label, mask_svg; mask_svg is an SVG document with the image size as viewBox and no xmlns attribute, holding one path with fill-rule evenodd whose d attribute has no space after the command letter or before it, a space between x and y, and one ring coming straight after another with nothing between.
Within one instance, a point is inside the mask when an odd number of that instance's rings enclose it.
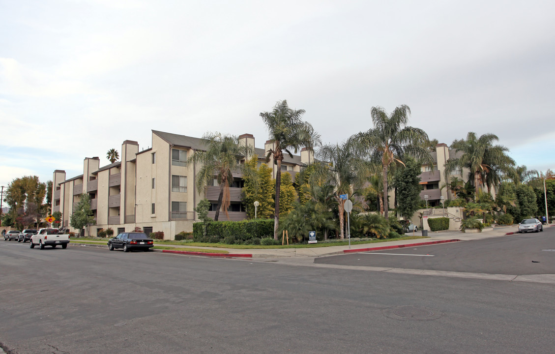
<instances>
[{"instance_id":1,"label":"asphalt side street with white stop line, at right","mask_svg":"<svg viewBox=\"0 0 555 354\"><path fill-rule=\"evenodd\" d=\"M321 257L315 262L487 274L554 274L555 227L492 239Z\"/></svg>"}]
</instances>

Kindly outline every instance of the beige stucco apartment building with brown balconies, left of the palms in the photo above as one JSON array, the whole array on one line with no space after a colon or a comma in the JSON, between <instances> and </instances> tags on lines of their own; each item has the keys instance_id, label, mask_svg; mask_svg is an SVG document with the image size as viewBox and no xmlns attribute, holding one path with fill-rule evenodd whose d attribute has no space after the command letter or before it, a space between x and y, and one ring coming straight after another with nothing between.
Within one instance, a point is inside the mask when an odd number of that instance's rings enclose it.
<instances>
[{"instance_id":1,"label":"beige stucco apartment building with brown balconies, left of the palms","mask_svg":"<svg viewBox=\"0 0 555 354\"><path fill-rule=\"evenodd\" d=\"M270 141L266 141L264 149L259 149L255 148L251 134L240 135L239 140L240 144L254 148L259 165L266 163L266 151L273 148ZM107 227L112 227L115 233L142 227L147 234L164 231L165 239L173 239L181 231L192 231L193 223L198 221L193 211L195 206L200 200L208 199L212 203L209 216L214 218L219 195L216 176L199 194L196 188L199 166L187 163L195 150L203 149L200 138L157 130L152 130L152 148L139 151L137 141L125 140L121 161L101 167L98 157L85 158L83 174L72 178L67 178L64 170L55 170L52 213L60 211L62 226L69 226L69 218L85 193L91 199L96 220L96 225L85 231L87 235L96 236ZM242 156L241 161L250 157ZM301 166L313 159L312 151L302 149L293 158L286 155L281 169L294 179ZM271 158L268 165L273 168L275 178L277 165ZM229 220L243 220L246 218L242 202L243 175L234 171L233 178ZM220 213L220 220L225 218Z\"/></svg>"}]
</instances>

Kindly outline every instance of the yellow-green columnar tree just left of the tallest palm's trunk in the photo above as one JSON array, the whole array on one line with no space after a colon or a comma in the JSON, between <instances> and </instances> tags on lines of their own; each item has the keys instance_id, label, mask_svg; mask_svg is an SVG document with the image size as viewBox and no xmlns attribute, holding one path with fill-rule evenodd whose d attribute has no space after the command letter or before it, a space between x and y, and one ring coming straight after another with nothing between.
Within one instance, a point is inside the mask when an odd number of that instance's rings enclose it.
<instances>
[{"instance_id":1,"label":"yellow-green columnar tree just left of the tallest palm's trunk","mask_svg":"<svg viewBox=\"0 0 555 354\"><path fill-rule=\"evenodd\" d=\"M258 156L254 155L246 163L244 168L249 170L244 176L243 201L246 206L246 216L254 219L254 202L259 205L256 210L256 218L270 219L274 216L274 179L272 170L265 164L257 169Z\"/></svg>"}]
</instances>

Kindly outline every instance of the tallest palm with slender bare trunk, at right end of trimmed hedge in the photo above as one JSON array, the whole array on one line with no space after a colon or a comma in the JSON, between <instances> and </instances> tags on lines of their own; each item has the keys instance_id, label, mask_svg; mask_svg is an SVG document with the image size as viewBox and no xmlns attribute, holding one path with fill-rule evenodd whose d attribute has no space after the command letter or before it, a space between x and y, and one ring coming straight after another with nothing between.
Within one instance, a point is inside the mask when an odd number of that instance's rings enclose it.
<instances>
[{"instance_id":1,"label":"tallest palm with slender bare trunk, at right end of trimmed hedge","mask_svg":"<svg viewBox=\"0 0 555 354\"><path fill-rule=\"evenodd\" d=\"M260 113L260 117L262 117L270 134L269 141L273 144L273 148L266 151L268 153L266 161L269 161L271 156L274 159L274 163L278 165L274 209L275 240L278 239L281 162L284 159L284 153L289 154L292 158L291 150L297 153L302 147L312 148L320 144L320 135L314 131L310 123L301 120L304 113L304 109L295 110L289 108L286 100L276 103L271 112Z\"/></svg>"}]
</instances>

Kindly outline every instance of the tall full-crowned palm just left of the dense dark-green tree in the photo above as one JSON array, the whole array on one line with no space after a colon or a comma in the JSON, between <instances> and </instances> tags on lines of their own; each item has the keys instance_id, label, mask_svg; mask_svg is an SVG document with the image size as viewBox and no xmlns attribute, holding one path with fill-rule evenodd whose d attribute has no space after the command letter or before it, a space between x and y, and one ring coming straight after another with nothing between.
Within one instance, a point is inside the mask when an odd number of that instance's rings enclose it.
<instances>
[{"instance_id":1,"label":"tall full-crowned palm just left of the dense dark-green tree","mask_svg":"<svg viewBox=\"0 0 555 354\"><path fill-rule=\"evenodd\" d=\"M430 160L426 148L422 147L426 146L428 142L428 134L420 128L407 127L410 113L410 108L405 104L395 108L390 115L382 107L372 107L371 116L374 128L355 135L360 145L370 155L371 160L381 162L386 219L389 218L387 176L390 165L395 161L402 164L401 156L403 154L424 161Z\"/></svg>"}]
</instances>

